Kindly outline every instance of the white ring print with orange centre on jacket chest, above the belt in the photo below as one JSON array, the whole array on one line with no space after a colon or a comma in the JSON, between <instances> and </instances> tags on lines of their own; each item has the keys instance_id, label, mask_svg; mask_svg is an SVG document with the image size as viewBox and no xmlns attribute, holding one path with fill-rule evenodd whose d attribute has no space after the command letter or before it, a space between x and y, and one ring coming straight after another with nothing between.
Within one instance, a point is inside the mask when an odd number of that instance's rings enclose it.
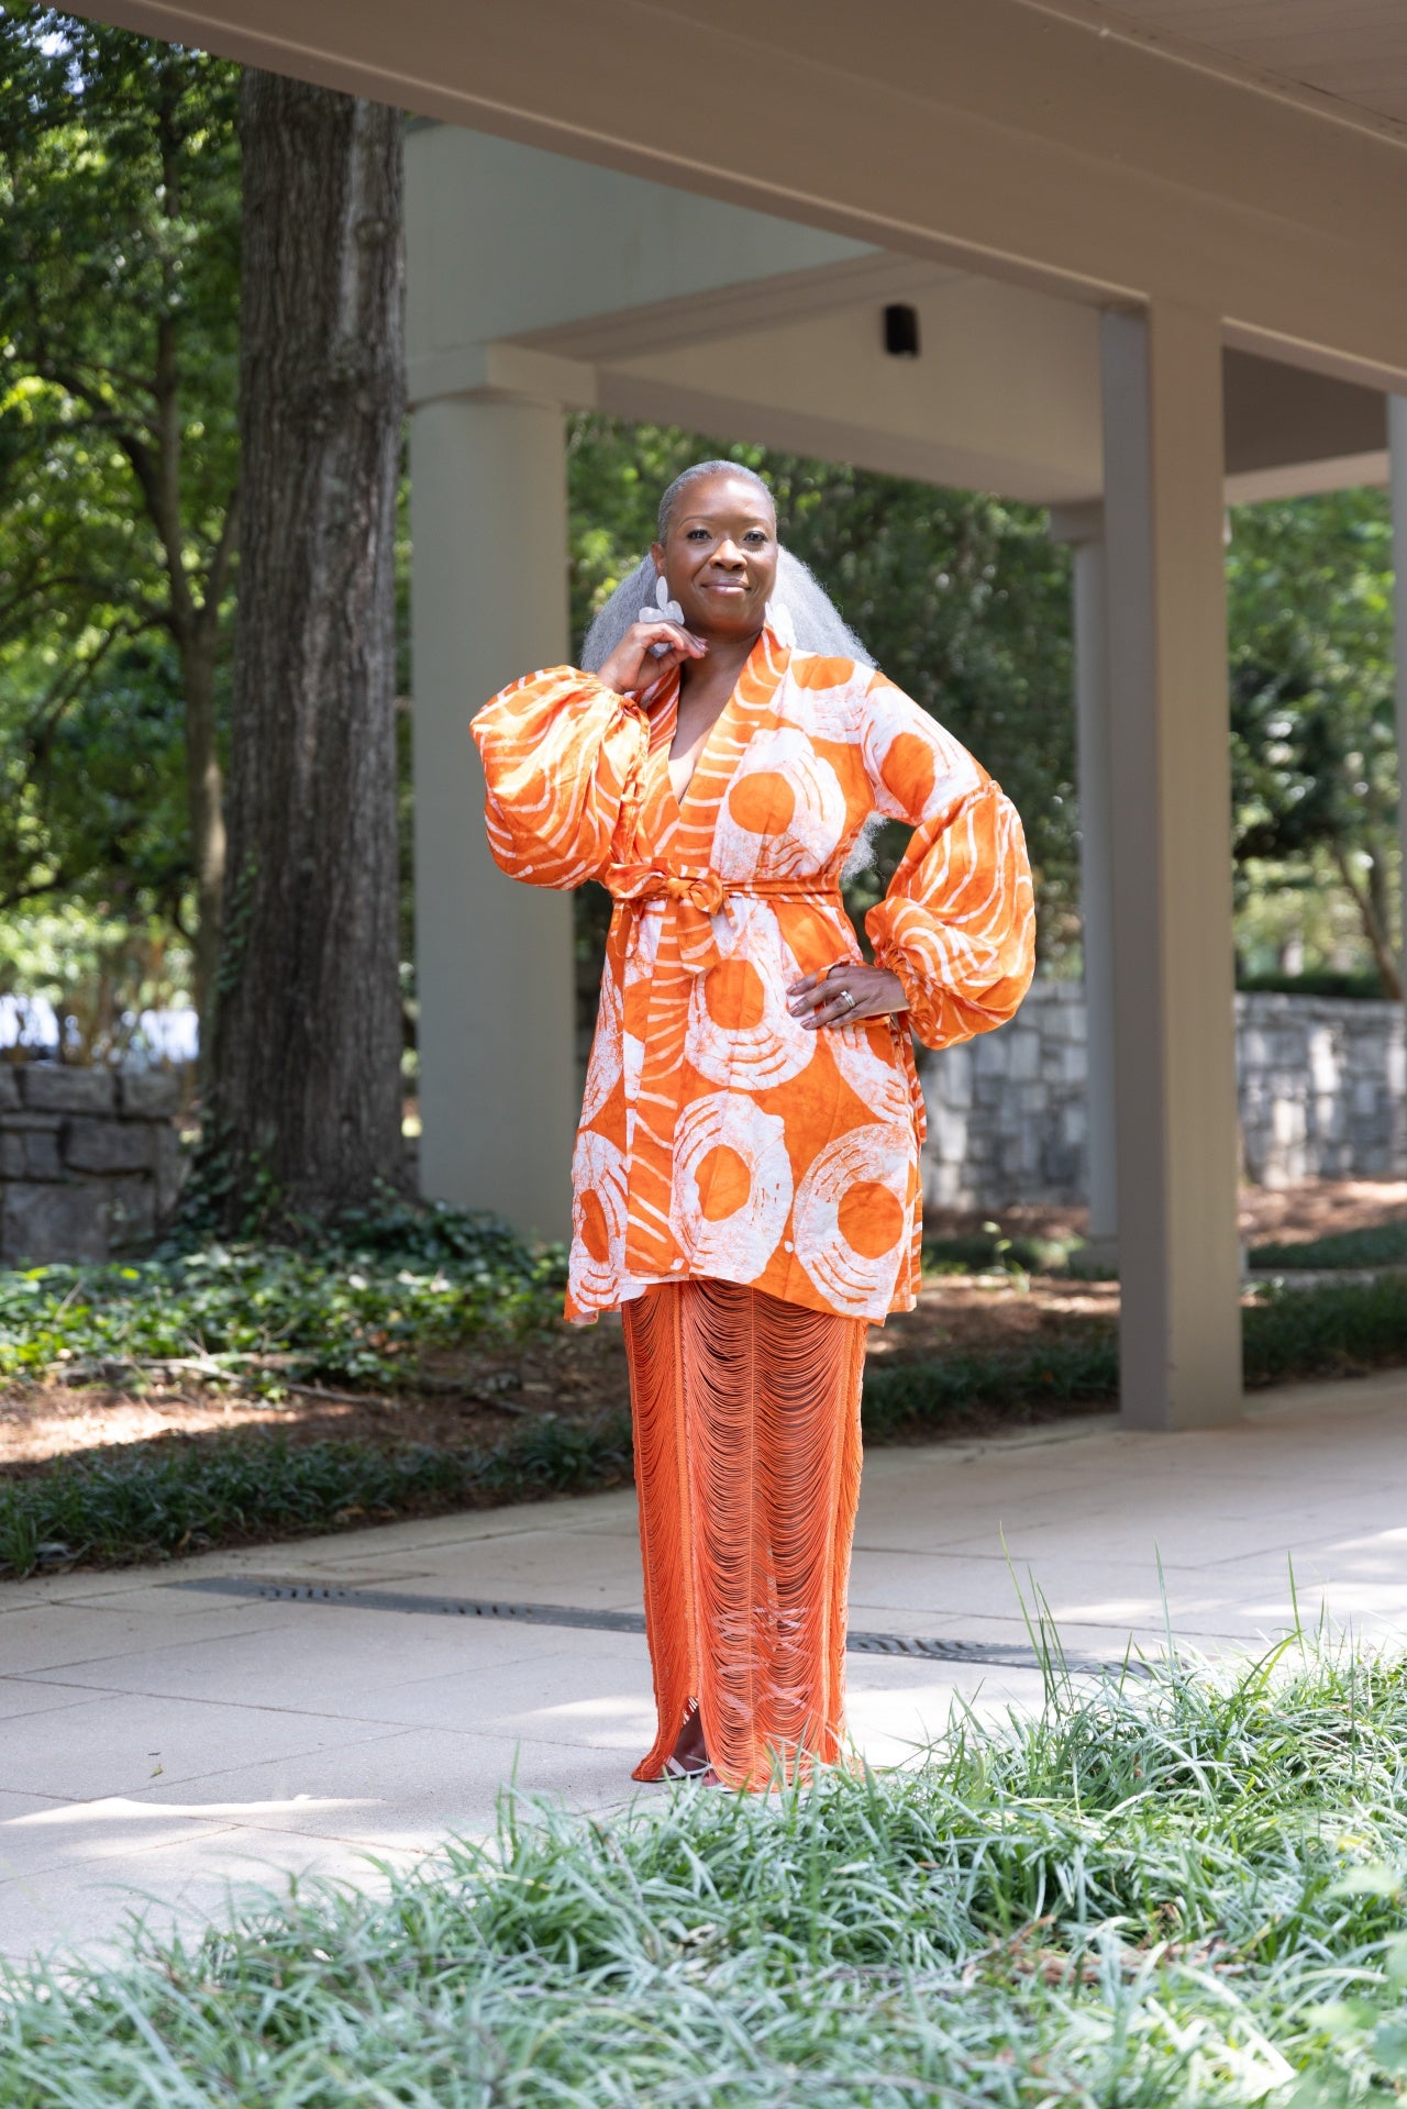
<instances>
[{"instance_id":1,"label":"white ring print with orange centre on jacket chest, above the belt","mask_svg":"<svg viewBox=\"0 0 1407 2109\"><path fill-rule=\"evenodd\" d=\"M846 831L846 793L797 725L749 742L724 793L713 867L726 879L825 871Z\"/></svg>"}]
</instances>

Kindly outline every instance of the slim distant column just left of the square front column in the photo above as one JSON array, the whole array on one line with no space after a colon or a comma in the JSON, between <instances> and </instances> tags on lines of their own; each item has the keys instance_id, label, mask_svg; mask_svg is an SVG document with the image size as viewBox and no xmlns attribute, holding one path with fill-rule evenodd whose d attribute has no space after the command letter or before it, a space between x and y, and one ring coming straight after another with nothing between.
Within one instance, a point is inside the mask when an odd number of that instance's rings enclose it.
<instances>
[{"instance_id":1,"label":"slim distant column just left of the square front column","mask_svg":"<svg viewBox=\"0 0 1407 2109\"><path fill-rule=\"evenodd\" d=\"M1118 1257L1114 1135L1114 882L1110 869L1110 656L1103 506L1057 506L1051 536L1074 550L1076 770L1080 782L1080 951L1088 1031L1086 1255Z\"/></svg>"}]
</instances>

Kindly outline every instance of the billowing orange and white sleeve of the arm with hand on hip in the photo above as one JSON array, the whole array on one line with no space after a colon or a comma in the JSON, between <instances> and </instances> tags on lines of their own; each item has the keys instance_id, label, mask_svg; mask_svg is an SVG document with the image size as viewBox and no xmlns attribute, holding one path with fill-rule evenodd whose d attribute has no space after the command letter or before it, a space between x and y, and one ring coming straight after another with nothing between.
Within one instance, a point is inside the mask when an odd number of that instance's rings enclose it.
<instances>
[{"instance_id":1,"label":"billowing orange and white sleeve of the arm with hand on hip","mask_svg":"<svg viewBox=\"0 0 1407 2109\"><path fill-rule=\"evenodd\" d=\"M1004 1025L1032 981L1021 820L972 755L882 675L865 702L863 753L875 808L913 827L865 930L875 962L899 974L924 1046L953 1046Z\"/></svg>"}]
</instances>

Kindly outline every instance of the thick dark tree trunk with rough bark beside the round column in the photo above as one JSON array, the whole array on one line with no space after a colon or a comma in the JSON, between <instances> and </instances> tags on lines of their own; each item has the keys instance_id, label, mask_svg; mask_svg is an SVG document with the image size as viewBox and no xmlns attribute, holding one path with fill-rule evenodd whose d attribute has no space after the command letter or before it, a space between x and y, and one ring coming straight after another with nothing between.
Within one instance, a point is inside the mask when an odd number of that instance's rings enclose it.
<instances>
[{"instance_id":1,"label":"thick dark tree trunk with rough bark beside the round column","mask_svg":"<svg viewBox=\"0 0 1407 2109\"><path fill-rule=\"evenodd\" d=\"M230 1225L401 1183L401 118L249 72L240 595L207 1177Z\"/></svg>"}]
</instances>

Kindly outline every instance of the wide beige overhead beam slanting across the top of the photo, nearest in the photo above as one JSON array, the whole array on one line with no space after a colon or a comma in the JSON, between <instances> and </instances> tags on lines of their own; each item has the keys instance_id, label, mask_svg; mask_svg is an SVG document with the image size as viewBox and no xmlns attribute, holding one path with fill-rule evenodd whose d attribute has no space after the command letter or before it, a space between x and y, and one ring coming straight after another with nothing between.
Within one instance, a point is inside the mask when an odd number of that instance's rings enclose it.
<instances>
[{"instance_id":1,"label":"wide beige overhead beam slanting across the top of the photo, nearest","mask_svg":"<svg viewBox=\"0 0 1407 2109\"><path fill-rule=\"evenodd\" d=\"M1027 0L108 0L152 36L1097 306L1407 384L1407 131L1156 21ZM1183 13L1169 8L1169 13ZM1188 11L1192 13L1192 11ZM1287 36L1304 0L1196 11ZM1321 11L1329 19L1329 4ZM1358 6L1333 11L1367 19ZM1386 17L1403 63L1407 17Z\"/></svg>"}]
</instances>

